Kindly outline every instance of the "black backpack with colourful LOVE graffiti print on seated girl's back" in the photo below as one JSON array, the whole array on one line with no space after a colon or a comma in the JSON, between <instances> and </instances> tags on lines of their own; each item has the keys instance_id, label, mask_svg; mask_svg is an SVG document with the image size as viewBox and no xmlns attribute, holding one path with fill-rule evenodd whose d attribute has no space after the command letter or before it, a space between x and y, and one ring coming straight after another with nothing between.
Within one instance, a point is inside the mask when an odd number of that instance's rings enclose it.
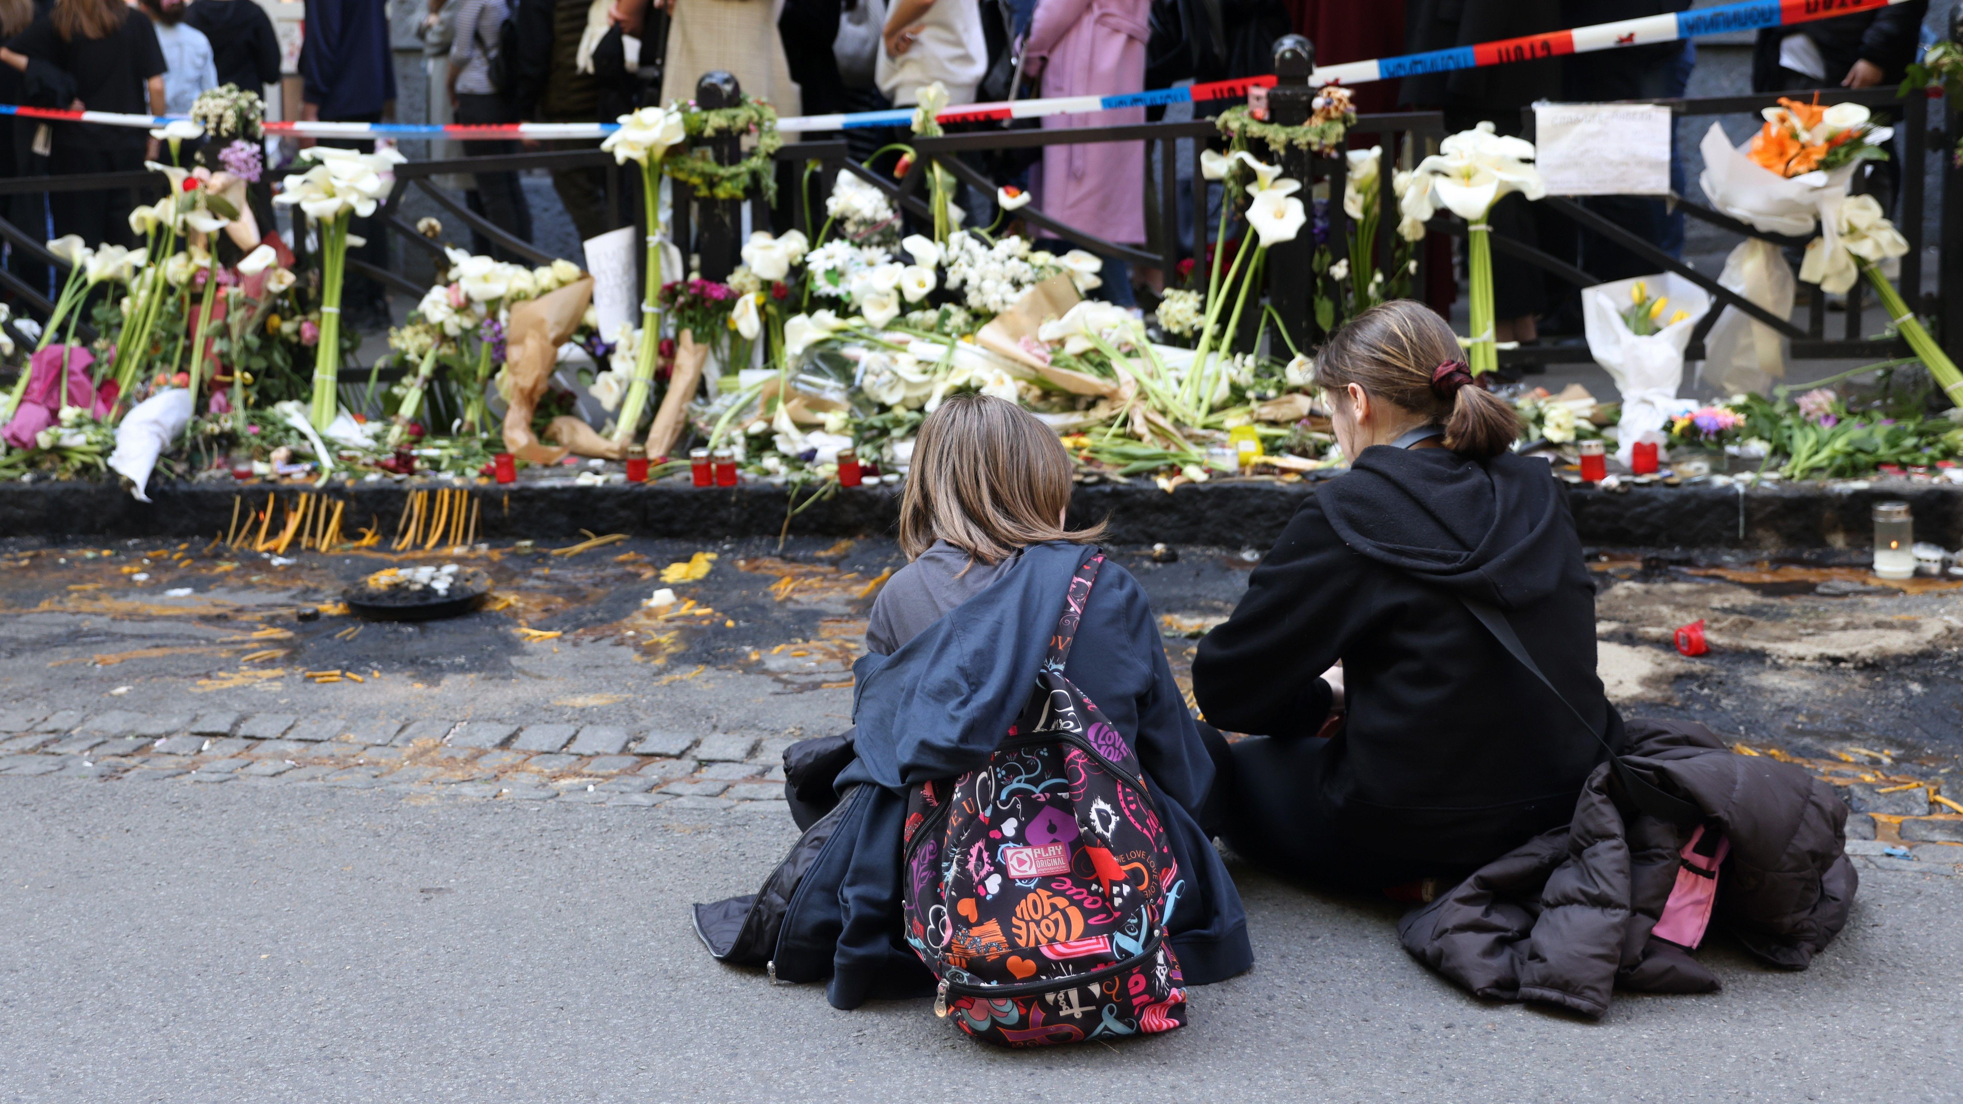
<instances>
[{"instance_id":1,"label":"black backpack with colourful LOVE graffiti print on seated girl's back","mask_svg":"<svg viewBox=\"0 0 1963 1104\"><path fill-rule=\"evenodd\" d=\"M1036 688L987 765L907 798L907 941L934 1014L1036 1047L1186 1024L1180 871L1131 745L1064 661L1103 555L1070 580Z\"/></svg>"}]
</instances>

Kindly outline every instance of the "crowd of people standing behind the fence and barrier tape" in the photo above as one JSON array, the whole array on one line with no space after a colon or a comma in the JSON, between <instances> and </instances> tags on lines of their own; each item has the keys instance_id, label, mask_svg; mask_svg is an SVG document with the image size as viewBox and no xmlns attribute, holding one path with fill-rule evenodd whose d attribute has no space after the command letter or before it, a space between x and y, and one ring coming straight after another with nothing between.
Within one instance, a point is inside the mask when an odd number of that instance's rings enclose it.
<instances>
[{"instance_id":1,"label":"crowd of people standing behind the fence and barrier tape","mask_svg":"<svg viewBox=\"0 0 1963 1104\"><path fill-rule=\"evenodd\" d=\"M744 92L781 112L830 114L905 108L940 84L952 106L1019 96L1137 92L1180 80L1266 73L1274 41L1307 35L1317 63L1462 47L1572 25L1669 14L1688 0L1406 0L1362 8L1335 0L428 0L422 33L440 88L432 112L461 124L605 122L650 102L689 98L709 71L732 73ZM1761 31L1753 88L1879 86L1902 78L1918 49L1928 0ZM183 114L220 84L265 88L281 78L281 49L257 0L0 0L0 102L133 114ZM510 57L504 57L504 55ZM1356 90L1362 112L1443 110L1447 129L1490 120L1517 131L1535 100L1682 96L1694 41L1553 57L1504 67L1407 76ZM298 57L304 120L395 118L397 73L383 0L308 0ZM1225 104L1199 106L1221 110ZM1123 125L1162 108L1048 116L1044 127ZM976 124L999 125L999 124ZM824 135L805 135L824 137ZM848 131L864 159L897 137ZM141 129L8 124L6 176L120 173L155 151ZM559 143L565 147L581 143ZM518 143L473 141L471 155L516 153ZM1148 245L1146 196L1158 182L1144 143L1052 145L976 165L997 184L1035 192L1038 210L1117 245ZM1888 169L1883 169L1886 175ZM1680 173L1678 173L1680 176ZM1676 188L1684 182L1678 178ZM601 169L554 173L554 188L581 237L610 227ZM974 214L991 196L974 190ZM1665 251L1682 249L1682 214L1661 200L1586 200ZM0 216L29 233L128 241L130 190L0 196ZM475 175L469 204L512 237L534 237L516 173ZM628 206L626 210L632 210ZM1211 220L1182 233L1203 237ZM1568 259L1612 280L1649 271L1612 241L1578 231L1513 196L1492 214L1494 231ZM357 229L365 259L385 265L381 227ZM479 251L497 251L479 235ZM1201 241L1182 249L1203 253ZM1429 267L1425 298L1447 306L1455 280L1447 241ZM1578 296L1508 255L1496 257L1496 337L1578 331ZM24 271L20 259L16 271ZM1129 273L1107 259L1105 292L1129 304ZM45 282L45 275L41 280ZM381 290L355 280L351 312L385 312ZM367 322L381 322L369 318Z\"/></svg>"}]
</instances>

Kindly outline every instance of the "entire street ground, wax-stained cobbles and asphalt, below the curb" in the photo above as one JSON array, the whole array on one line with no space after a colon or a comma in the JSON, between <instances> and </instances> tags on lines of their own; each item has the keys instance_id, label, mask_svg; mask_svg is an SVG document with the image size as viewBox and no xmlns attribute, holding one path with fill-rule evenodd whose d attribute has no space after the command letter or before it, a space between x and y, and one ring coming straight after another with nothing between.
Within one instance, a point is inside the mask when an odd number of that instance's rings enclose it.
<instances>
[{"instance_id":1,"label":"entire street ground, wax-stained cobbles and asphalt, below the curb","mask_svg":"<svg viewBox=\"0 0 1963 1104\"><path fill-rule=\"evenodd\" d=\"M1001 1055L716 967L687 924L795 837L779 757L850 724L891 545L469 555L497 610L385 626L338 590L410 557L0 541L0 1100L1955 1098L1955 592L1598 565L1625 712L1853 806L1855 922L1804 975L1718 941L1724 994L1596 1028L1445 986L1388 904L1237 869L1258 967L1192 1029ZM1256 557L1119 555L1184 677Z\"/></svg>"}]
</instances>

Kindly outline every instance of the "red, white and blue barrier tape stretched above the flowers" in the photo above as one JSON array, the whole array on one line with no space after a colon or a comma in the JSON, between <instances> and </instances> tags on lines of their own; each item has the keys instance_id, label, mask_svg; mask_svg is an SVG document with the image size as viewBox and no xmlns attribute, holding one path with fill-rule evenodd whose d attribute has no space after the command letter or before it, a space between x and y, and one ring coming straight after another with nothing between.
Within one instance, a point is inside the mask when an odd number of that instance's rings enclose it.
<instances>
[{"instance_id":1,"label":"red, white and blue barrier tape stretched above the flowers","mask_svg":"<svg viewBox=\"0 0 1963 1104\"><path fill-rule=\"evenodd\" d=\"M1459 69L1482 69L1488 65L1508 65L1513 61L1537 61L1570 53L1594 53L1619 49L1625 45L1651 45L1682 41L1700 35L1722 35L1733 31L1755 31L1761 27L1780 27L1788 24L1808 24L1831 20L1857 12L1877 12L1890 4L1908 0L1743 0L1718 8L1698 8L1669 16L1645 16L1641 20L1618 20L1614 24L1594 24L1570 31L1547 31L1517 39L1502 39L1429 53L1407 53L1404 57L1382 57L1376 61L1347 61L1325 65L1309 76L1309 84L1370 84L1374 80L1396 80L1421 73L1453 73ZM1015 100L997 104L964 104L940 112L942 124L991 122L991 120L1035 120L1042 116L1072 116L1089 112L1109 112L1117 108L1148 108L1158 104L1203 104L1213 100L1239 100L1248 88L1272 86L1274 76L1243 76L1237 80L1209 80L1188 88L1158 88L1152 92L1123 92L1117 96L1050 96L1044 100ZM126 116L114 112L59 112L49 108L16 108L0 104L0 116L20 116L35 120L61 120L84 124L108 124L122 127L161 127L167 118ZM811 133L832 129L893 127L913 122L911 108L889 112L854 112L836 116L791 116L777 120L777 129ZM267 122L267 133L294 137L389 137L389 139L451 139L451 141L512 141L512 139L595 139L618 129L616 124L506 124L506 125L418 125L418 124L320 124L320 122Z\"/></svg>"}]
</instances>

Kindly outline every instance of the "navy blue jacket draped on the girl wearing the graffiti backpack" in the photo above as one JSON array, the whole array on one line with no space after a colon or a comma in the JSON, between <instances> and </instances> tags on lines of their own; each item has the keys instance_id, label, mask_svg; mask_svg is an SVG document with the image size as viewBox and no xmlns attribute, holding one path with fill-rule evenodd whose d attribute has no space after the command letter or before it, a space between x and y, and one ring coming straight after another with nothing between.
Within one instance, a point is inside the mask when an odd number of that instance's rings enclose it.
<instances>
[{"instance_id":1,"label":"navy blue jacket draped on the girl wearing the graffiti backpack","mask_svg":"<svg viewBox=\"0 0 1963 1104\"><path fill-rule=\"evenodd\" d=\"M848 824L785 916L779 980L830 973L826 996L836 1008L928 992L927 971L901 941L903 792L972 771L995 751L1036 682L1070 575L1089 555L1084 545L1031 545L893 655L854 665L858 759L838 777ZM1174 857L1192 882L1172 918L1186 980L1207 984L1247 971L1254 953L1241 894L1195 820L1213 765L1172 680L1144 588L1123 567L1107 561L1099 571L1064 675L1133 743L1162 798ZM813 961L826 947L828 971Z\"/></svg>"}]
</instances>

